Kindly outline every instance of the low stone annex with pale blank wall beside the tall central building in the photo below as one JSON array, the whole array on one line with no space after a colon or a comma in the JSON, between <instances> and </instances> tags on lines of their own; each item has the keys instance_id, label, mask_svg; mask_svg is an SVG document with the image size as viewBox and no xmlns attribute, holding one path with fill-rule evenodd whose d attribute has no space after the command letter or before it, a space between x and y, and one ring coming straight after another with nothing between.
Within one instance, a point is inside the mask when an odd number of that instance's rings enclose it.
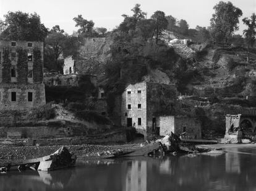
<instances>
[{"instance_id":1,"label":"low stone annex with pale blank wall beside the tall central building","mask_svg":"<svg viewBox=\"0 0 256 191\"><path fill-rule=\"evenodd\" d=\"M160 127L160 135L165 136L171 134L182 135L185 139L202 138L202 127L200 121L195 117L187 116L160 116L156 118L156 125Z\"/></svg>"}]
</instances>

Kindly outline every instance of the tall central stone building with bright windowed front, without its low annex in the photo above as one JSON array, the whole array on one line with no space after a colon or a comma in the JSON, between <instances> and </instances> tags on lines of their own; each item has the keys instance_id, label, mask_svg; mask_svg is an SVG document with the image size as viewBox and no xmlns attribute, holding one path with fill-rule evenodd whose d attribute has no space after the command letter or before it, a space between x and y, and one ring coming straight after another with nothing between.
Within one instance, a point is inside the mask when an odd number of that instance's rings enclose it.
<instances>
[{"instance_id":1,"label":"tall central stone building with bright windowed front, without its low annex","mask_svg":"<svg viewBox=\"0 0 256 191\"><path fill-rule=\"evenodd\" d=\"M160 83L136 83L128 85L122 93L121 125L133 126L145 137L154 134L156 117L171 108L176 100L176 88Z\"/></svg>"}]
</instances>

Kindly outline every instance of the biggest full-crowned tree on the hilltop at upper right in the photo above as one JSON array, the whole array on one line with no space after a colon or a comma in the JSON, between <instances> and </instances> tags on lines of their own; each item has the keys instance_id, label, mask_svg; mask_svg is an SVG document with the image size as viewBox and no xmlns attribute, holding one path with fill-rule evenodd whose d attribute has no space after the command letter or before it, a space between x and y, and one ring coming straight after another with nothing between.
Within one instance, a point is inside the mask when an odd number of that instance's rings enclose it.
<instances>
[{"instance_id":1,"label":"biggest full-crowned tree on the hilltop at upper right","mask_svg":"<svg viewBox=\"0 0 256 191\"><path fill-rule=\"evenodd\" d=\"M213 9L215 13L210 20L211 36L215 41L227 43L228 38L239 29L239 17L242 16L242 11L229 1L220 1Z\"/></svg>"}]
</instances>

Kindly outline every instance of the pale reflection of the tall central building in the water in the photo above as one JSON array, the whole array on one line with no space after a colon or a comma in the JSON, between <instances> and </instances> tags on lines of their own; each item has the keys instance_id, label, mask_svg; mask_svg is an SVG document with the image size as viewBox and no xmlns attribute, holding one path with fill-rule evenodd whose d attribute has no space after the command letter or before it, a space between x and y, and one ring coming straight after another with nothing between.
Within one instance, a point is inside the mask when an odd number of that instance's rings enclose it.
<instances>
[{"instance_id":1,"label":"pale reflection of the tall central building in the water","mask_svg":"<svg viewBox=\"0 0 256 191\"><path fill-rule=\"evenodd\" d=\"M129 161L126 163L125 191L147 190L147 161Z\"/></svg>"}]
</instances>

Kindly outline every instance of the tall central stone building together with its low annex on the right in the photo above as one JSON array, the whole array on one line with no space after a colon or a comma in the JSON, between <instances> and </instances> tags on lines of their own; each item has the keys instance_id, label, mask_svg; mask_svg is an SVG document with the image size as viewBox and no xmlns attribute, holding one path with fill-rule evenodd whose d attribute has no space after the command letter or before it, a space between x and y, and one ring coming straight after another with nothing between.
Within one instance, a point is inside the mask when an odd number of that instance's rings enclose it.
<instances>
[{"instance_id":1,"label":"tall central stone building together with its low annex on the right","mask_svg":"<svg viewBox=\"0 0 256 191\"><path fill-rule=\"evenodd\" d=\"M144 137L182 134L182 138L202 137L201 122L196 117L175 116L177 99L174 85L135 83L128 85L121 98L121 125L135 127Z\"/></svg>"}]
</instances>

